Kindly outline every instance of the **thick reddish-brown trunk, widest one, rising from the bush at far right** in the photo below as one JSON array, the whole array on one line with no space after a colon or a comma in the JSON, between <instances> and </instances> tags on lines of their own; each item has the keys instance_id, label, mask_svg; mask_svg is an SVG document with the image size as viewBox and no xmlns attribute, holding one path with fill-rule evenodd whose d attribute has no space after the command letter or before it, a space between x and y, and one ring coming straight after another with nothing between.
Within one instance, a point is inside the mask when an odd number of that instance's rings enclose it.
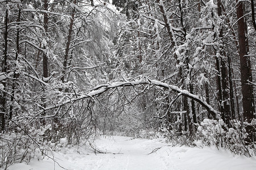
<instances>
[{"instance_id":1,"label":"thick reddish-brown trunk, widest one, rising from the bush at far right","mask_svg":"<svg viewBox=\"0 0 256 170\"><path fill-rule=\"evenodd\" d=\"M243 120L251 122L254 116L254 92L251 81L250 57L247 56L247 41L246 41L246 22L243 12L243 2L237 2L237 18L238 18L238 44L240 57L241 71L241 86L242 86L242 103L243 103Z\"/></svg>"}]
</instances>

